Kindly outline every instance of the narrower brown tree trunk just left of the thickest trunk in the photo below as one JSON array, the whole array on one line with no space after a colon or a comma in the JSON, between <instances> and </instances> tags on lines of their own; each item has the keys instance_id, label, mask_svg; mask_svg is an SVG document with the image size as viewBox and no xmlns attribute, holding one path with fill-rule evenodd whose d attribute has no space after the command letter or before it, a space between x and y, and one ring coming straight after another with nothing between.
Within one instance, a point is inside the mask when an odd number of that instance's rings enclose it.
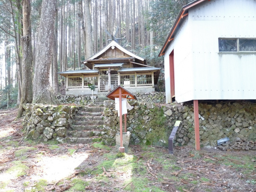
<instances>
[{"instance_id":1,"label":"narrower brown tree trunk just left of the thickest trunk","mask_svg":"<svg viewBox=\"0 0 256 192\"><path fill-rule=\"evenodd\" d=\"M30 0L22 0L23 13L23 36L21 38L22 46L22 86L21 97L17 118L22 116L24 105L33 100L33 53L31 45L31 21L30 21Z\"/></svg>"}]
</instances>

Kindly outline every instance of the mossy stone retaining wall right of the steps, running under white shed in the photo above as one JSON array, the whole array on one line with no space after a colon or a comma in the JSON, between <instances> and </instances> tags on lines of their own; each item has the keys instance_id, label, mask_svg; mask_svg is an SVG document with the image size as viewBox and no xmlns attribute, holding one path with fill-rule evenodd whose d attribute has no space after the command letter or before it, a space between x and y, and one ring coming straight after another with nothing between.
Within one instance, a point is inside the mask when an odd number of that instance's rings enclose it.
<instances>
[{"instance_id":1,"label":"mossy stone retaining wall right of the steps, running under white shed","mask_svg":"<svg viewBox=\"0 0 256 192\"><path fill-rule=\"evenodd\" d=\"M127 130L132 133L131 144L167 146L168 137L176 122L181 120L174 138L175 146L194 145L194 109L188 102L156 106L145 101L130 102L134 109L127 114ZM105 101L104 136L106 144L114 144L119 129L119 117L113 101ZM199 104L200 144L216 146L217 140L237 138L256 140L256 104L234 102L225 104Z\"/></svg>"}]
</instances>

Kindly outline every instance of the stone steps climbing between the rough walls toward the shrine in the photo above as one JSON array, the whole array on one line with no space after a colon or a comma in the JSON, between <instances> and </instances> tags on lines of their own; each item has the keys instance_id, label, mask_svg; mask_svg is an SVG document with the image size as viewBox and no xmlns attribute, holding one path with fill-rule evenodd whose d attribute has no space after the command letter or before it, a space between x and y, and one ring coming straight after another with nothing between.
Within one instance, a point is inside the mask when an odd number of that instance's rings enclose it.
<instances>
[{"instance_id":1,"label":"stone steps climbing between the rough walls toward the shrine","mask_svg":"<svg viewBox=\"0 0 256 192\"><path fill-rule=\"evenodd\" d=\"M72 130L68 131L66 141L69 143L90 143L99 141L102 135L104 107L83 106L81 107L72 124Z\"/></svg>"}]
</instances>

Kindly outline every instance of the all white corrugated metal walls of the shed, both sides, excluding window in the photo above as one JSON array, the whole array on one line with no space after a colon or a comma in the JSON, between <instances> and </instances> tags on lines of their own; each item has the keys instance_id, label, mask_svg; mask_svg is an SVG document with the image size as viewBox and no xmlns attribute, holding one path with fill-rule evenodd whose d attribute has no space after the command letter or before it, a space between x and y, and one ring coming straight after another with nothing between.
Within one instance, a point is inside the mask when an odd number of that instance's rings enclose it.
<instances>
[{"instance_id":1,"label":"all white corrugated metal walls of the shed, both sides, excluding window","mask_svg":"<svg viewBox=\"0 0 256 192\"><path fill-rule=\"evenodd\" d=\"M219 53L218 38L256 38L256 0L211 0L189 10L164 56L167 102L173 49L178 102L256 99L256 53Z\"/></svg>"}]
</instances>

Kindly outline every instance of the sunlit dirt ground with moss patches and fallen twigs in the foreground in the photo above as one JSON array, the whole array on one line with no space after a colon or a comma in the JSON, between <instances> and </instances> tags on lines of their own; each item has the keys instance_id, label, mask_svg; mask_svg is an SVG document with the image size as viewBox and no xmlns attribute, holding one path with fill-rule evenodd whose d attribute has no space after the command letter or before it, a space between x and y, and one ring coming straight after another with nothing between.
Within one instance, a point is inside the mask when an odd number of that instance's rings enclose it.
<instances>
[{"instance_id":1,"label":"sunlit dirt ground with moss patches and fallen twigs in the foreground","mask_svg":"<svg viewBox=\"0 0 256 192\"><path fill-rule=\"evenodd\" d=\"M26 140L17 110L0 110L0 192L256 192L256 151Z\"/></svg>"}]
</instances>

